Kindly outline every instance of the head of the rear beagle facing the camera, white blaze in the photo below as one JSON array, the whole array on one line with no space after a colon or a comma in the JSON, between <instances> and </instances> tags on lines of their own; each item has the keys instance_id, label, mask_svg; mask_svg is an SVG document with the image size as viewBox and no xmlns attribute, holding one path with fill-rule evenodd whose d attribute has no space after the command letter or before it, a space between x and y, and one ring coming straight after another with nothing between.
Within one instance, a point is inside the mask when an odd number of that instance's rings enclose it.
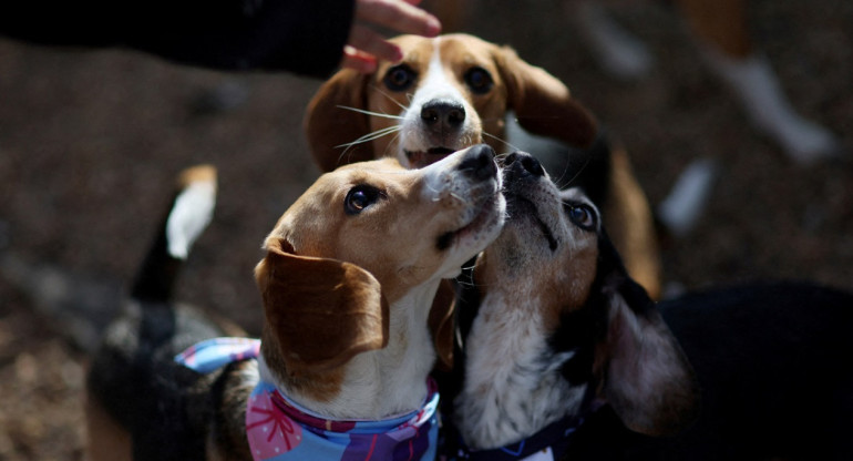
<instances>
[{"instance_id":1,"label":"head of the rear beagle facing the camera, white blaze","mask_svg":"<svg viewBox=\"0 0 853 461\"><path fill-rule=\"evenodd\" d=\"M484 142L497 148L507 111L526 130L586 147L596 123L568 89L506 47L472 35L402 35L400 63L342 70L311 100L308 142L322 171L382 156L422 167Z\"/></svg>"}]
</instances>

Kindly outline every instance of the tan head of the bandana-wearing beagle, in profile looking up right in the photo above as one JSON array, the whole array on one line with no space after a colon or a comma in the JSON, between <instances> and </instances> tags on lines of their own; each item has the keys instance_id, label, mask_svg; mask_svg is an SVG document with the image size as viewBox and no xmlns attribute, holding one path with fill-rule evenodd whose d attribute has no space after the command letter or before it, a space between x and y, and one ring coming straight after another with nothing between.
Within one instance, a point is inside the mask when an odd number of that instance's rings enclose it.
<instances>
[{"instance_id":1,"label":"tan head of the bandana-wearing beagle, in profile looking up right","mask_svg":"<svg viewBox=\"0 0 853 461\"><path fill-rule=\"evenodd\" d=\"M386 347L389 309L455 276L497 235L500 188L485 145L422 170L386 158L320 176L278 221L255 270L271 371L286 370L277 378L288 381ZM432 295L412 301L425 306L424 319Z\"/></svg>"}]
</instances>

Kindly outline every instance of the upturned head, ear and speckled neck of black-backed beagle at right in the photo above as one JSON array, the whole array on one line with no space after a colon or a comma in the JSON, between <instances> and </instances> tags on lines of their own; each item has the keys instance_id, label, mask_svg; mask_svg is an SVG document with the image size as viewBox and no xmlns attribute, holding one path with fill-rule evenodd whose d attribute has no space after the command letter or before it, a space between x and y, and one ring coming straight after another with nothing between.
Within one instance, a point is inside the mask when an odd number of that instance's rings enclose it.
<instances>
[{"instance_id":1,"label":"upturned head, ear and speckled neck of black-backed beagle at right","mask_svg":"<svg viewBox=\"0 0 853 461\"><path fill-rule=\"evenodd\" d=\"M603 402L641 433L689 424L692 369L596 206L577 188L559 191L528 154L510 154L503 175L508 218L460 284L460 315L473 320L460 321L453 419L471 453L492 459L522 442L525 455L556 450ZM546 428L555 440L535 437Z\"/></svg>"}]
</instances>

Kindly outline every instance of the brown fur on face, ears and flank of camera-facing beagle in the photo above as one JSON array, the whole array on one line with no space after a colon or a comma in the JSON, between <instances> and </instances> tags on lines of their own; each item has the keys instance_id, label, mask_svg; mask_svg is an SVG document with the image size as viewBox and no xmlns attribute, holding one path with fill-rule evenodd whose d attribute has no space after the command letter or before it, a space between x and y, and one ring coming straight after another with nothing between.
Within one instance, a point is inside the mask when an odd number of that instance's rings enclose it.
<instances>
[{"instance_id":1,"label":"brown fur on face, ears and flank of camera-facing beagle","mask_svg":"<svg viewBox=\"0 0 853 461\"><path fill-rule=\"evenodd\" d=\"M393 41L404 50L402 63L423 78L434 52L435 39L402 35ZM460 140L443 140L453 148L484 142L497 152L505 150L505 116L514 111L528 132L552 137L576 147L588 147L598 131L589 111L572 98L568 88L545 70L531 65L508 47L500 47L472 35L448 34L440 38L440 55L448 81L464 95L474 113L466 116L479 129L461 133ZM322 171L343 163L400 155L398 136L386 135L369 143L343 147L368 133L387 129L394 119L370 116L342 109L356 107L380 114L399 114L408 107L423 79L404 92L394 92L383 83L392 66L381 62L376 73L362 75L342 70L327 81L311 100L305 117L305 131L311 154ZM463 82L467 70L479 66L493 80L491 91L477 94ZM429 162L440 158L414 158ZM637 182L625 151L612 158L612 174L606 187L608 203L602 204L613 221L615 240L629 270L652 297L660 294L661 267L657 233L650 207ZM613 215L610 217L610 215Z\"/></svg>"}]
</instances>

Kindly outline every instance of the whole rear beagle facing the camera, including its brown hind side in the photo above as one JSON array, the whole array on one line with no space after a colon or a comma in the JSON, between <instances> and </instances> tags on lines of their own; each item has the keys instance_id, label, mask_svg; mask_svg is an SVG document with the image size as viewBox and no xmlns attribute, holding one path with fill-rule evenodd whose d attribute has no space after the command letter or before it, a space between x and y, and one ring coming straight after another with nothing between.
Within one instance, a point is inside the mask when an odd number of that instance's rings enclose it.
<instances>
[{"instance_id":1,"label":"whole rear beagle facing the camera, including its brown hind side","mask_svg":"<svg viewBox=\"0 0 853 461\"><path fill-rule=\"evenodd\" d=\"M627 153L609 148L565 84L512 49L472 35L393 41L401 62L380 63L368 75L342 70L310 101L305 130L320 170L382 156L422 167L481 142L500 150L512 113L530 133L588 148L563 176L600 191L595 199L615 223L630 273L660 293L655 224Z\"/></svg>"}]
</instances>

